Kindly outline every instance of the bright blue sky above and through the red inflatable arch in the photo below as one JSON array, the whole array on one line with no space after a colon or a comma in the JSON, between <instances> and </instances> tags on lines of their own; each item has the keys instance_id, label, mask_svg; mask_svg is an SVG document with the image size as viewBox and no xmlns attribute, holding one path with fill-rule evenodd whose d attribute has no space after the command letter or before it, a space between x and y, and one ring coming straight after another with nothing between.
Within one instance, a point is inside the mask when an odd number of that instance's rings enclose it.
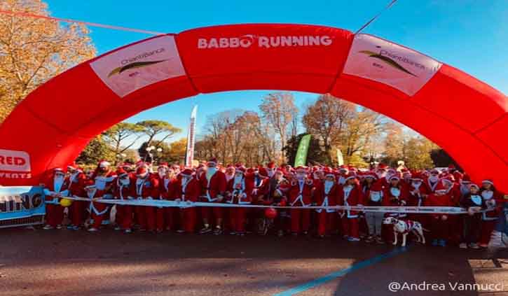
<instances>
[{"instance_id":1,"label":"bright blue sky above and through the red inflatable arch","mask_svg":"<svg viewBox=\"0 0 508 296\"><path fill-rule=\"evenodd\" d=\"M45 0L51 15L121 27L178 33L217 24L321 24L356 31L379 13L389 0L256 0L256 1L139 1ZM90 27L100 55L149 37L127 31ZM508 94L507 0L399 0L364 29L364 33L405 45L455 66ZM193 104L198 104L198 134L207 115L231 108L258 111L269 91L200 94L139 113L128 122L167 120L186 135ZM317 94L294 92L302 107ZM220 103L220 104L219 104Z\"/></svg>"}]
</instances>

